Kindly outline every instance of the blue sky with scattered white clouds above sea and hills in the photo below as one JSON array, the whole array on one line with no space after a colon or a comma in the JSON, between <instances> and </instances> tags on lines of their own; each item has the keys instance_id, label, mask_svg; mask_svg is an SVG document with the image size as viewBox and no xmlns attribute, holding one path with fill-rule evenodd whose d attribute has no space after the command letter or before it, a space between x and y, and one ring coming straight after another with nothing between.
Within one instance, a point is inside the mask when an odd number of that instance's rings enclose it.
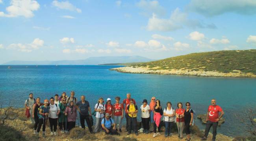
<instances>
[{"instance_id":1,"label":"blue sky with scattered white clouds above sea and hills","mask_svg":"<svg viewBox=\"0 0 256 141\"><path fill-rule=\"evenodd\" d=\"M0 64L256 49L256 0L0 0Z\"/></svg>"}]
</instances>

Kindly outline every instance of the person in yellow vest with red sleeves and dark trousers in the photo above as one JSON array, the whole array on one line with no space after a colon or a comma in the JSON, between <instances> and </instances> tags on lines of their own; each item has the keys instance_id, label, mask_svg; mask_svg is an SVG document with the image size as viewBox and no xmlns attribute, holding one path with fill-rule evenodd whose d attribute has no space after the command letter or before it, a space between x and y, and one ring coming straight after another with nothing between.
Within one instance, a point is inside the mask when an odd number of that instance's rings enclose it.
<instances>
[{"instance_id":1,"label":"person in yellow vest with red sleeves and dark trousers","mask_svg":"<svg viewBox=\"0 0 256 141\"><path fill-rule=\"evenodd\" d=\"M137 112L138 107L134 104L134 100L130 99L130 104L127 106L127 112L129 116L129 130L127 135L131 134L132 130L135 132L135 135L138 136L137 130Z\"/></svg>"}]
</instances>

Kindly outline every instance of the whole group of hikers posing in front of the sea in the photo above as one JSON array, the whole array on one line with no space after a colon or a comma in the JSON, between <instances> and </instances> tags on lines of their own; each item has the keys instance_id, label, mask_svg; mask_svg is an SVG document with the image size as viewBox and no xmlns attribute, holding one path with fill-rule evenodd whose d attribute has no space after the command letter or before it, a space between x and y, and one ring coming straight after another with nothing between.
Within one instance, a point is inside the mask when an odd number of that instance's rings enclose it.
<instances>
[{"instance_id":1,"label":"whole group of hikers posing in front of the sea","mask_svg":"<svg viewBox=\"0 0 256 141\"><path fill-rule=\"evenodd\" d=\"M160 100L152 97L149 105L147 99L144 99L140 109L138 109L135 99L131 98L131 94L128 93L122 102L120 102L121 98L117 96L114 104L111 103L110 98L107 99L106 104L104 104L103 98L99 98L92 113L90 104L85 100L85 96L81 96L80 101L77 101L74 95L74 91L71 91L69 97L63 92L61 96L56 94L54 98L50 98L50 103L48 99L41 103L40 98L34 99L33 94L30 94L29 98L25 101L25 107L30 110L30 115L32 115L30 119L32 123L35 123L34 134L38 135L43 126L43 137L45 137L45 127L48 120L51 135L57 135L57 125L59 125L61 133L69 132L75 127L76 119L79 118L81 127L85 129L86 121L91 134L104 130L106 134L120 135L119 132L122 132L122 119L125 116L127 135L134 132L138 136L137 113L140 110L143 133L148 134L150 127L153 127L154 133L152 137L161 135L160 122L163 116L165 137L171 136L171 128L176 123L178 137L183 139L183 130L185 128L186 140L190 141L191 139L189 127L193 125L194 111L191 109L189 102L186 102L186 108L183 107L181 102L177 104L176 109L172 107L171 102L167 102L166 107L163 108ZM220 115L219 112L221 112ZM77 113L79 113L79 116ZM94 114L96 123L93 130L92 115ZM211 126L213 126L212 139L213 141L215 140L218 121L223 115L224 112L221 107L216 105L215 99L212 99L211 105L208 107L207 125L202 140L206 140Z\"/></svg>"}]
</instances>

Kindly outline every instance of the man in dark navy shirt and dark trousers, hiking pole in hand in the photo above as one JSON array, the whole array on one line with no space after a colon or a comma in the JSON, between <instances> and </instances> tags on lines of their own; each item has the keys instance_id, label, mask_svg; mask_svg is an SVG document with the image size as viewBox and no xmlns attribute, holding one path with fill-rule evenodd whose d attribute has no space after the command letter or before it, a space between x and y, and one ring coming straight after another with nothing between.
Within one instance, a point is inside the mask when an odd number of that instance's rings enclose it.
<instances>
[{"instance_id":1,"label":"man in dark navy shirt and dark trousers, hiking pole in hand","mask_svg":"<svg viewBox=\"0 0 256 141\"><path fill-rule=\"evenodd\" d=\"M81 101L78 101L76 103L76 108L78 112L80 113L80 123L82 128L85 129L84 120L87 123L87 126L89 128L89 131L91 134L93 134L93 128L89 119L89 116L91 116L91 107L88 101L85 100L85 96L81 96ZM89 114L88 114L89 112Z\"/></svg>"}]
</instances>

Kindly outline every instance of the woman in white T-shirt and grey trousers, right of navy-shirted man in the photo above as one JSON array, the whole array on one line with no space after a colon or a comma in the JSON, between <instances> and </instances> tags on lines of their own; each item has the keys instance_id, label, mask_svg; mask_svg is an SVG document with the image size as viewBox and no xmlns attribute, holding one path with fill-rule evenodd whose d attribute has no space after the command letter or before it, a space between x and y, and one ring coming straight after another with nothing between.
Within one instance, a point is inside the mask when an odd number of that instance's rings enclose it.
<instances>
[{"instance_id":1,"label":"woman in white T-shirt and grey trousers, right of navy-shirted man","mask_svg":"<svg viewBox=\"0 0 256 141\"><path fill-rule=\"evenodd\" d=\"M106 110L106 107L103 104L103 98L98 99L98 103L95 105L94 110L96 111L96 124L94 127L94 132L98 133L101 131L101 121L104 117L104 112Z\"/></svg>"}]
</instances>

